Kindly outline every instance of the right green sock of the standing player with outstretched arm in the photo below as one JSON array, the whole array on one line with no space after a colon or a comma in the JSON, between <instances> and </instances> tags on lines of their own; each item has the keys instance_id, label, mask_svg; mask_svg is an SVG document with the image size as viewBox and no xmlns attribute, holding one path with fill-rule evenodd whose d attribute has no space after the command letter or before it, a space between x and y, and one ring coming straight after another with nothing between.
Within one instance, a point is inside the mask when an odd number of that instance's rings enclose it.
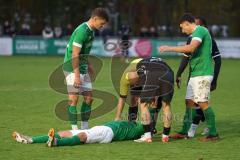
<instances>
[{"instance_id":1,"label":"right green sock of the standing player with outstretched arm","mask_svg":"<svg viewBox=\"0 0 240 160\"><path fill-rule=\"evenodd\" d=\"M216 136L217 131L216 131L216 126L215 126L215 114L213 112L213 109L211 107L208 107L207 109L205 109L203 111L203 113L205 115L206 122L208 125L209 135Z\"/></svg>"}]
</instances>

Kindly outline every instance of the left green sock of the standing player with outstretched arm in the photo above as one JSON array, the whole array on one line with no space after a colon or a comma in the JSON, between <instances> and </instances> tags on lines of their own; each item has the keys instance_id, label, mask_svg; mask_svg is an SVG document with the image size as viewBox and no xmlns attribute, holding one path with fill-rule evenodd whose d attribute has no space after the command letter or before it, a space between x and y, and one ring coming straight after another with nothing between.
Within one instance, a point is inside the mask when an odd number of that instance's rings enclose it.
<instances>
[{"instance_id":1,"label":"left green sock of the standing player with outstretched arm","mask_svg":"<svg viewBox=\"0 0 240 160\"><path fill-rule=\"evenodd\" d=\"M184 119L183 119L182 130L179 132L180 134L188 133L188 130L191 126L192 120L195 117L195 115L196 115L196 109L186 107L186 112L185 112Z\"/></svg>"}]
</instances>

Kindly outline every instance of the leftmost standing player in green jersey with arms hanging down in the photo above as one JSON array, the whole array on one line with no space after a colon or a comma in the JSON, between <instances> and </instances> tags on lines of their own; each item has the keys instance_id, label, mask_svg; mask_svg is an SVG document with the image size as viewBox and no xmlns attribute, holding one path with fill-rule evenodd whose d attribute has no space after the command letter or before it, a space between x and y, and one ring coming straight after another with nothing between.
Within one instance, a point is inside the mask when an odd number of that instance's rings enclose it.
<instances>
[{"instance_id":1,"label":"leftmost standing player in green jersey with arms hanging down","mask_svg":"<svg viewBox=\"0 0 240 160\"><path fill-rule=\"evenodd\" d=\"M72 33L67 45L64 58L63 71L66 77L69 97L69 120L73 130L77 130L77 109L79 94L84 101L81 106L81 129L88 129L88 120L91 113L92 83L88 73L94 74L88 62L93 39L94 29L101 29L108 22L108 15L103 8L92 11L87 22L80 24Z\"/></svg>"}]
</instances>

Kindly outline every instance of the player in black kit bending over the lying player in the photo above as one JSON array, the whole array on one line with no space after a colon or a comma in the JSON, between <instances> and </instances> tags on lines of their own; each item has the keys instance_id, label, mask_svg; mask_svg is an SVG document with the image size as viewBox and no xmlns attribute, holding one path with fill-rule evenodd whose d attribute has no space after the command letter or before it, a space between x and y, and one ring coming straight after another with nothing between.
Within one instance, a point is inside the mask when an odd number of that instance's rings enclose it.
<instances>
[{"instance_id":1,"label":"player in black kit bending over the lying player","mask_svg":"<svg viewBox=\"0 0 240 160\"><path fill-rule=\"evenodd\" d=\"M136 79L137 86L131 88L131 94L139 96L141 121L144 135L136 142L152 142L151 115L149 107L162 105L163 109L163 134L162 141L169 141L172 122L170 103L173 97L174 74L171 68L161 58L150 57L140 60L135 71L129 72L130 79Z\"/></svg>"}]
</instances>

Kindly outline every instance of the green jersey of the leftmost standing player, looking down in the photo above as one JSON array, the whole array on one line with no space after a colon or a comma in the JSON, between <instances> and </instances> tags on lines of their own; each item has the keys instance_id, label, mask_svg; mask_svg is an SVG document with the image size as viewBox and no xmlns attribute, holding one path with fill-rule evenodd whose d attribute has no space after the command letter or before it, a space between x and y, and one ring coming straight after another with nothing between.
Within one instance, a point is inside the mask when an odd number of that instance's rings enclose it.
<instances>
[{"instance_id":1,"label":"green jersey of the leftmost standing player, looking down","mask_svg":"<svg viewBox=\"0 0 240 160\"><path fill-rule=\"evenodd\" d=\"M79 70L81 74L88 72L88 60L87 57L90 53L93 43L93 30L88 26L86 22L80 24L72 33L70 40L67 45L63 70L68 72L73 72L72 66L72 50L73 45L80 47L79 55Z\"/></svg>"}]
</instances>

